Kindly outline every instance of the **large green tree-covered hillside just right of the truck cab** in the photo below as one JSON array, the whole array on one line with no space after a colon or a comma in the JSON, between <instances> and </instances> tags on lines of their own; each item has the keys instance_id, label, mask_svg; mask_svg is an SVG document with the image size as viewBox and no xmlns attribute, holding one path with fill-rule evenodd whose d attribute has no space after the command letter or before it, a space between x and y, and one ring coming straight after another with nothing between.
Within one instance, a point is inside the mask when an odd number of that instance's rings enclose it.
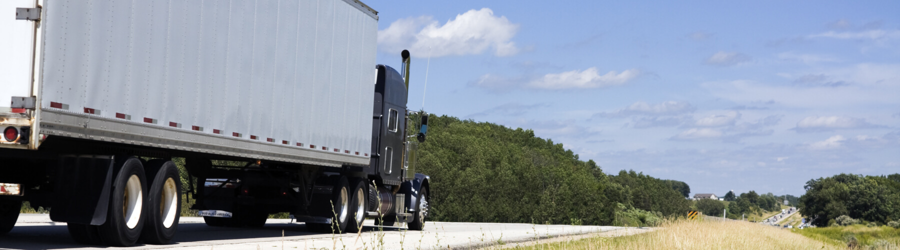
<instances>
[{"instance_id":1,"label":"large green tree-covered hillside just right of the truck cab","mask_svg":"<svg viewBox=\"0 0 900 250\"><path fill-rule=\"evenodd\" d=\"M446 115L428 127L417 171L431 176L434 220L638 226L691 205L687 183L607 174L531 129Z\"/></svg>"}]
</instances>

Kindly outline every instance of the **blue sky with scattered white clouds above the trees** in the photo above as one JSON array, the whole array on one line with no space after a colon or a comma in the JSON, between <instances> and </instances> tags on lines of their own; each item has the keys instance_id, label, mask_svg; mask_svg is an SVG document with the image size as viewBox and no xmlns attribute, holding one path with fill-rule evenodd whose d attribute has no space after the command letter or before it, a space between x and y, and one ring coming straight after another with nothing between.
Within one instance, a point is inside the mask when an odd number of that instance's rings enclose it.
<instances>
[{"instance_id":1,"label":"blue sky with scattered white clouds above the trees","mask_svg":"<svg viewBox=\"0 0 900 250\"><path fill-rule=\"evenodd\" d=\"M410 109L424 92L607 173L719 195L900 173L900 2L365 3L378 62L414 56Z\"/></svg>"}]
</instances>

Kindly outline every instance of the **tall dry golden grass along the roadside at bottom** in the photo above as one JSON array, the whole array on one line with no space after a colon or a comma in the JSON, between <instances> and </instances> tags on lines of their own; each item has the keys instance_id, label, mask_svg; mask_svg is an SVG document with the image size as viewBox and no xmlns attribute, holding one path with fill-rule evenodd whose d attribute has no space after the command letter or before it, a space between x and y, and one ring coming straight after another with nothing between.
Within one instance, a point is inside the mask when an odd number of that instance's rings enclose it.
<instances>
[{"instance_id":1,"label":"tall dry golden grass along the roadside at bottom","mask_svg":"<svg viewBox=\"0 0 900 250\"><path fill-rule=\"evenodd\" d=\"M752 222L676 219L626 237L591 237L518 249L845 249Z\"/></svg>"}]
</instances>

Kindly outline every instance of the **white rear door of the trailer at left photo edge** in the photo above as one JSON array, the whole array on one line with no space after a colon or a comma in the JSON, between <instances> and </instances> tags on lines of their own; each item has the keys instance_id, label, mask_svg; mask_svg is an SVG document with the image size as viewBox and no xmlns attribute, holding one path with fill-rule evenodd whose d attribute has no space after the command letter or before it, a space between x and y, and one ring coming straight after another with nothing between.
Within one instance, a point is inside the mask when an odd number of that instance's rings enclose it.
<instances>
[{"instance_id":1,"label":"white rear door of the trailer at left photo edge","mask_svg":"<svg viewBox=\"0 0 900 250\"><path fill-rule=\"evenodd\" d=\"M33 8L34 0L0 1L0 113L13 96L31 96L34 22L16 20L16 8ZM18 111L15 111L18 112Z\"/></svg>"}]
</instances>

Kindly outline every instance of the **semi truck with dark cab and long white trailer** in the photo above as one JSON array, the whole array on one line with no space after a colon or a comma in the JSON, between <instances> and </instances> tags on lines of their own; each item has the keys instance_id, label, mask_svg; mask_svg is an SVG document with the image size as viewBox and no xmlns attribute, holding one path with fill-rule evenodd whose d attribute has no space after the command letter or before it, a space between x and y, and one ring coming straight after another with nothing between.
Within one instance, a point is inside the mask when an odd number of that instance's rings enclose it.
<instances>
[{"instance_id":1,"label":"semi truck with dark cab and long white trailer","mask_svg":"<svg viewBox=\"0 0 900 250\"><path fill-rule=\"evenodd\" d=\"M377 24L356 0L0 2L0 234L23 201L106 246L168 244L183 209L422 230L428 113Z\"/></svg>"}]
</instances>

